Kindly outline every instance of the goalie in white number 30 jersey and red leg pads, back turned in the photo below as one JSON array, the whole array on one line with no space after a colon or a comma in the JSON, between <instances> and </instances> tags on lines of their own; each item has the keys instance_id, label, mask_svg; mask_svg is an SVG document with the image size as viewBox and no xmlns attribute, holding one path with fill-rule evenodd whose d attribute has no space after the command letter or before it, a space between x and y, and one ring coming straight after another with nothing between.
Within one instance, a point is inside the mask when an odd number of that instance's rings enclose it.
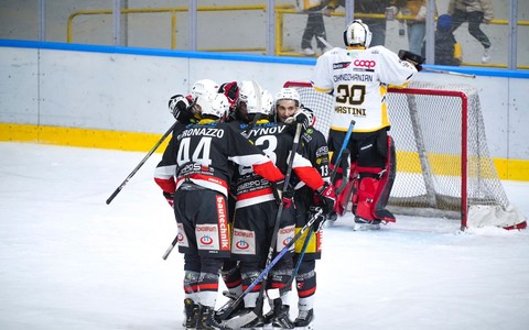
<instances>
[{"instance_id":1,"label":"goalie in white number 30 jersey and red leg pads, back turned","mask_svg":"<svg viewBox=\"0 0 529 330\"><path fill-rule=\"evenodd\" d=\"M355 20L344 31L346 48L323 54L312 76L315 90L335 96L328 133L332 164L344 143L352 120L356 121L347 148L350 151L352 180L338 197L336 212L343 215L350 194L357 229L378 229L395 222L386 210L395 180L395 146L388 135L386 95L388 85L404 85L421 69L384 46L369 48L369 28ZM339 170L338 170L339 173ZM339 186L341 175L337 175ZM355 179L358 178L358 179Z\"/></svg>"}]
</instances>

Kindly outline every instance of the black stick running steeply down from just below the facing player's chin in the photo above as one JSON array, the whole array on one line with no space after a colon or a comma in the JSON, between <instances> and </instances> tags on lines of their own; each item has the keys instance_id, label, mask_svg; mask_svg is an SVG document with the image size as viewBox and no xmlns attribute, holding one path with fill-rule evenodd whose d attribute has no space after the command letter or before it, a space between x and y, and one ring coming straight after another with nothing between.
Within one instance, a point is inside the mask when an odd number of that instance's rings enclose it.
<instances>
[{"instance_id":1,"label":"black stick running steeply down from just below the facing player's chin","mask_svg":"<svg viewBox=\"0 0 529 330\"><path fill-rule=\"evenodd\" d=\"M289 165L287 167L287 174L284 176L284 183L283 183L283 189L282 189L283 194L289 189L290 177L292 175L292 166L293 166L293 163L294 163L295 154L298 153L298 146L300 145L300 138L301 138L302 128L303 127L302 127L301 123L298 123L296 127L295 127L295 134L294 134L293 144L292 144L292 152L291 152L291 155L290 155L290 158L289 158ZM284 202L281 199L281 201L279 204L279 207L278 207L278 213L276 216L276 222L273 224L272 239L271 239L271 242L270 242L270 246L268 249L266 268L268 268L268 265L270 264L270 261L272 260L272 256L273 256L273 250L274 250L274 246L276 246L276 243L277 243L277 240L278 240L279 223L281 222L281 217L283 215L283 208L284 208ZM263 278L261 292L264 290L266 283L267 283L267 278ZM256 285L257 285L257 283L256 283ZM256 285L253 285L253 286L256 286ZM249 290L247 289L246 292L249 292ZM262 309L262 300L263 299L262 299L261 292L259 292L259 297L258 297L256 309L259 307L259 302L261 302L261 309ZM240 302L242 297L248 294L248 293L246 293L246 294L245 293L242 293L242 295L240 295L239 298L235 300L235 301L237 301L237 304L234 304L234 308ZM231 301L229 301L229 302L231 302ZM220 310L223 308L220 308ZM224 319L226 319L226 317L229 316L229 314L233 311L234 308L231 308L228 314L226 314L226 312L222 314Z\"/></svg>"}]
</instances>

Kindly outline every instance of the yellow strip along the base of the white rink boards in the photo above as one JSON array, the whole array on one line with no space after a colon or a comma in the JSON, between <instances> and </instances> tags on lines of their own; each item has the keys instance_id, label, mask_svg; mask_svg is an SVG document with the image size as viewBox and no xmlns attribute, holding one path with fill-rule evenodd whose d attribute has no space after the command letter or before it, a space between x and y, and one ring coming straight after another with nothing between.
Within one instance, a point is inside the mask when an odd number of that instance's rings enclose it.
<instances>
[{"instance_id":1,"label":"yellow strip along the base of the white rink boards","mask_svg":"<svg viewBox=\"0 0 529 330\"><path fill-rule=\"evenodd\" d=\"M0 141L32 142L66 146L109 148L121 151L149 152L163 134L117 132L63 127L0 123ZM165 150L170 138L156 150ZM430 154L431 170L440 175L461 173L460 157L455 155ZM493 160L500 179L529 182L529 161ZM414 152L397 152L397 172L421 173L419 156Z\"/></svg>"}]
</instances>

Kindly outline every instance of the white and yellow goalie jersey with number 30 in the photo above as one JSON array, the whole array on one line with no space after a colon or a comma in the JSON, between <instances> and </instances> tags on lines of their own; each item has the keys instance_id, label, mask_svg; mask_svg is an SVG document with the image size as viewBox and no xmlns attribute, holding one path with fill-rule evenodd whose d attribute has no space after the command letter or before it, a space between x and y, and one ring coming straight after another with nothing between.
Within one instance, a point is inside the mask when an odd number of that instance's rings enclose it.
<instances>
[{"instance_id":1,"label":"white and yellow goalie jersey with number 30","mask_svg":"<svg viewBox=\"0 0 529 330\"><path fill-rule=\"evenodd\" d=\"M374 132L389 127L386 94L388 85L404 85L417 74L384 46L367 50L333 48L317 58L312 76L314 89L336 98L331 129Z\"/></svg>"}]
</instances>

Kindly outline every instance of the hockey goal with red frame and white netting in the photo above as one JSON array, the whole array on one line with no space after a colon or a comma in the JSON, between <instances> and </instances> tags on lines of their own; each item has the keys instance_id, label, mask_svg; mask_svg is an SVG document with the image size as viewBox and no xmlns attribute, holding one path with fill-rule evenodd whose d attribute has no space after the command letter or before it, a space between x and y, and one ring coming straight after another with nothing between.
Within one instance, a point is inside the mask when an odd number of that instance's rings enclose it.
<instances>
[{"instance_id":1,"label":"hockey goal with red frame and white netting","mask_svg":"<svg viewBox=\"0 0 529 330\"><path fill-rule=\"evenodd\" d=\"M316 114L325 135L334 98L310 82L288 81ZM417 81L390 88L390 134L397 177L388 209L393 213L461 219L461 228L525 228L509 204L489 156L477 90L468 85Z\"/></svg>"}]
</instances>

